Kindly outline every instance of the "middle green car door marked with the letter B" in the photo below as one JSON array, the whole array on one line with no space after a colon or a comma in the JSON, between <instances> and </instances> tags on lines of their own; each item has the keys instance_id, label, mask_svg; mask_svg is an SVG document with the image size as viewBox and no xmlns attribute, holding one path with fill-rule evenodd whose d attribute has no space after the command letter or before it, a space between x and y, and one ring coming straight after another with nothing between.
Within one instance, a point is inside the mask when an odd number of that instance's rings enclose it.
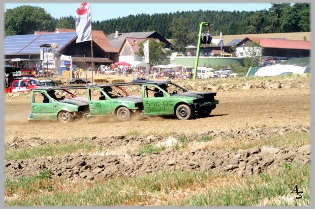
<instances>
[{"instance_id":1,"label":"middle green car door marked with the letter B","mask_svg":"<svg viewBox=\"0 0 315 209\"><path fill-rule=\"evenodd\" d=\"M100 88L89 89L89 107L91 116L113 114L111 98Z\"/></svg>"}]
</instances>

